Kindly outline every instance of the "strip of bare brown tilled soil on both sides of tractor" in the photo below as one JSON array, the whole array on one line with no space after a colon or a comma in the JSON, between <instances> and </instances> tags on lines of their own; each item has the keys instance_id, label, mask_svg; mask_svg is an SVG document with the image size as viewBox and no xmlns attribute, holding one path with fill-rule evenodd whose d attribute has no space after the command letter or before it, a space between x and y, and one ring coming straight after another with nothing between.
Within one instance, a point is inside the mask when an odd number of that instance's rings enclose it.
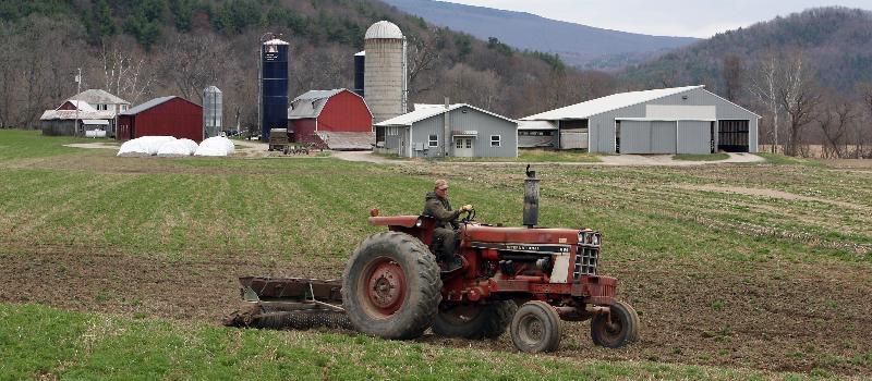
<instances>
[{"instance_id":1,"label":"strip of bare brown tilled soil on both sides of tractor","mask_svg":"<svg viewBox=\"0 0 872 381\"><path fill-rule=\"evenodd\" d=\"M343 263L140 258L76 247L0 250L0 302L220 323L239 307L238 275L335 278ZM566 323L555 355L777 371L822 368L872 376L872 280L864 266L706 262L605 263L640 312L639 342L594 347L586 322ZM846 286L850 285L850 286ZM508 335L420 341L514 352ZM865 356L865 357L862 357Z\"/></svg>"}]
</instances>

